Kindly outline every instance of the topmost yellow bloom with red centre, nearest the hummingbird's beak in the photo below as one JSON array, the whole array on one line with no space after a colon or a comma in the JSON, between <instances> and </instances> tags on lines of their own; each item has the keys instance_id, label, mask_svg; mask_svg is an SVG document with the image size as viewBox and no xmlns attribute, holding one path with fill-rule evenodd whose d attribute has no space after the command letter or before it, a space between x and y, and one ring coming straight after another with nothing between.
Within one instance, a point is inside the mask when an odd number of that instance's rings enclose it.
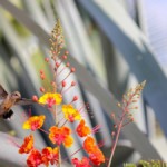
<instances>
[{"instance_id":1,"label":"topmost yellow bloom with red centre, nearest the hummingbird's beak","mask_svg":"<svg viewBox=\"0 0 167 167\"><path fill-rule=\"evenodd\" d=\"M55 94L55 92L46 92L42 95L38 102L42 105L48 105L48 107L52 107L53 105L60 105L62 101L61 94Z\"/></svg>"}]
</instances>

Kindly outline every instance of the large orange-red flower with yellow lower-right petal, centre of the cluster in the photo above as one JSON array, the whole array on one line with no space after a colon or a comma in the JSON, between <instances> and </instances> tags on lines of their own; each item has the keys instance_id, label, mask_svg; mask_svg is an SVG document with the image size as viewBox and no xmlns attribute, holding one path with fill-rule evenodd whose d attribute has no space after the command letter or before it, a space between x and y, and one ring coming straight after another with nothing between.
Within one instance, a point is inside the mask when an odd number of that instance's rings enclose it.
<instances>
[{"instance_id":1,"label":"large orange-red flower with yellow lower-right petal, centre of the cluster","mask_svg":"<svg viewBox=\"0 0 167 167\"><path fill-rule=\"evenodd\" d=\"M50 131L49 138L53 144L61 145L63 143L66 147L70 147L71 144L73 143L73 139L69 136L71 134L71 130L68 127L59 128L52 126L49 129L49 131Z\"/></svg>"}]
</instances>

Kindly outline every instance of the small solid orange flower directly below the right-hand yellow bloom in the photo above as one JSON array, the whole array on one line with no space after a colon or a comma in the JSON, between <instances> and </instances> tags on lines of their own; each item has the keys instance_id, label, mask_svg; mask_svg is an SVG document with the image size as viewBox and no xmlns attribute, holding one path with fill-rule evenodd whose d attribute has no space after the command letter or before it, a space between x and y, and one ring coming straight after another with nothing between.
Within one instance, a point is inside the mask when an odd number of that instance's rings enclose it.
<instances>
[{"instance_id":1,"label":"small solid orange flower directly below the right-hand yellow bloom","mask_svg":"<svg viewBox=\"0 0 167 167\"><path fill-rule=\"evenodd\" d=\"M85 120L81 119L76 131L77 131L78 136L86 137L87 135L90 134L90 128L88 126L86 126Z\"/></svg>"}]
</instances>

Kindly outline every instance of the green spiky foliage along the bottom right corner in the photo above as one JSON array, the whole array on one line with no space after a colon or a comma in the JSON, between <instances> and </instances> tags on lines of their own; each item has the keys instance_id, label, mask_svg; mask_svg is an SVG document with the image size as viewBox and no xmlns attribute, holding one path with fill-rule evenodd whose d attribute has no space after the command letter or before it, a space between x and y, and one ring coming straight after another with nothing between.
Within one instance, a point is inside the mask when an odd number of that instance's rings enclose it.
<instances>
[{"instance_id":1,"label":"green spiky foliage along the bottom right corner","mask_svg":"<svg viewBox=\"0 0 167 167\"><path fill-rule=\"evenodd\" d=\"M140 160L138 165L135 164L124 164L124 167L167 167L167 163L161 160Z\"/></svg>"}]
</instances>

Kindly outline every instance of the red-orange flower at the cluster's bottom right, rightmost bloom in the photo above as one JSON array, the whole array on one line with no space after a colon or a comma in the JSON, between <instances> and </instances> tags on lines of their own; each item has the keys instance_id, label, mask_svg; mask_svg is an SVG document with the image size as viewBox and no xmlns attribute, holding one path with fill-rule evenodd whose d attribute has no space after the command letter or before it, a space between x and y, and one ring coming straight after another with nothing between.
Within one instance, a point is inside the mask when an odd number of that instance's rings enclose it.
<instances>
[{"instance_id":1,"label":"red-orange flower at the cluster's bottom right, rightmost bloom","mask_svg":"<svg viewBox=\"0 0 167 167\"><path fill-rule=\"evenodd\" d=\"M105 156L98 147L89 154L89 158L91 163L94 163L96 166L99 166L101 163L105 163Z\"/></svg>"}]
</instances>

